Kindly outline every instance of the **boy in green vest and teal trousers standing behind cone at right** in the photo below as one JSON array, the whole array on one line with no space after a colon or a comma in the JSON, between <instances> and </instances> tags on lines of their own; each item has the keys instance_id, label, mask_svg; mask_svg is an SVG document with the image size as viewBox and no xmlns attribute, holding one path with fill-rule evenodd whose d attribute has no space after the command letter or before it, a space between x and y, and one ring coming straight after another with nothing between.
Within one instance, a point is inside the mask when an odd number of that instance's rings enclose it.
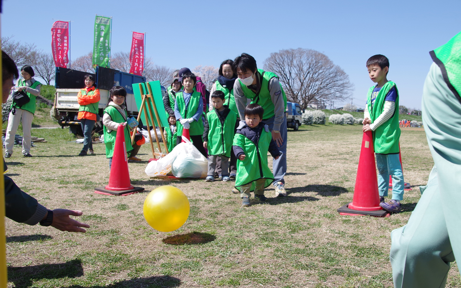
<instances>
[{"instance_id":1,"label":"boy in green vest and teal trousers standing behind cone at right","mask_svg":"<svg viewBox=\"0 0 461 288\"><path fill-rule=\"evenodd\" d=\"M379 206L388 212L402 209L403 173L399 154L399 92L396 83L387 80L389 59L374 55L366 61L370 79L377 85L368 90L363 132L372 131L373 147L378 167ZM392 199L384 202L389 190L389 175L392 176Z\"/></svg>"}]
</instances>

